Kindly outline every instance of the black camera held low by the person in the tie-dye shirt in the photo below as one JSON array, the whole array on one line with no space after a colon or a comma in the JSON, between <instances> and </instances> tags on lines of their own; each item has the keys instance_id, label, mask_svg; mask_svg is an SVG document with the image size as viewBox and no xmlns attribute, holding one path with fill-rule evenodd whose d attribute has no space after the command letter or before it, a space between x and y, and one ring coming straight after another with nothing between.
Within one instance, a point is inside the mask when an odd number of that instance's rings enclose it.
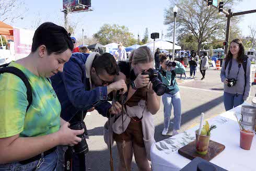
<instances>
[{"instance_id":1,"label":"black camera held low by the person in the tie-dye shirt","mask_svg":"<svg viewBox=\"0 0 256 171\"><path fill-rule=\"evenodd\" d=\"M71 148L73 148L73 152L75 154L80 154L80 153L86 154L88 152L88 145L86 143L85 136L88 134L87 134L87 129L86 129L84 121L76 121L76 122L72 123L69 126L69 128L74 129L74 130L81 130L83 128L85 129L85 132L82 135L78 135L78 137L82 138L82 141L79 142L78 144L74 145Z\"/></svg>"}]
</instances>

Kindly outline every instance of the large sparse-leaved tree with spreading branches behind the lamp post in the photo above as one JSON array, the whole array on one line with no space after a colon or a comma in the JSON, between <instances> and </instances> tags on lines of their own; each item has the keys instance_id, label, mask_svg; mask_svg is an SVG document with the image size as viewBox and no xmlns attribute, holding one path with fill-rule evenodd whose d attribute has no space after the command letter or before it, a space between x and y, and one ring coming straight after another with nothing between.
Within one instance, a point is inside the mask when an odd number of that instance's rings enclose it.
<instances>
[{"instance_id":1,"label":"large sparse-leaved tree with spreading branches behind the lamp post","mask_svg":"<svg viewBox=\"0 0 256 171\"><path fill-rule=\"evenodd\" d=\"M224 0L225 9L231 9L239 0ZM210 6L203 0L170 0L170 6L165 9L164 24L168 25L169 36L173 31L173 7L177 5L177 33L193 34L197 43L197 52L199 53L204 43L212 40L223 39L225 34L223 30L226 27L226 17L219 14L218 9Z\"/></svg>"}]
</instances>

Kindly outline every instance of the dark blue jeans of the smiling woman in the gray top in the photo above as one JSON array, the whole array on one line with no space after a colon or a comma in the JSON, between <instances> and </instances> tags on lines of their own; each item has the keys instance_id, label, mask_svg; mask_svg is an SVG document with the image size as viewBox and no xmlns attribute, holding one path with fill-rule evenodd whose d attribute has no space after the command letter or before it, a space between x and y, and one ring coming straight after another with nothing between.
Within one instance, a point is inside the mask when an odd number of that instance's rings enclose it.
<instances>
[{"instance_id":1,"label":"dark blue jeans of the smiling woman in the gray top","mask_svg":"<svg viewBox=\"0 0 256 171\"><path fill-rule=\"evenodd\" d=\"M242 94L230 94L224 92L224 106L226 111L243 103Z\"/></svg>"}]
</instances>

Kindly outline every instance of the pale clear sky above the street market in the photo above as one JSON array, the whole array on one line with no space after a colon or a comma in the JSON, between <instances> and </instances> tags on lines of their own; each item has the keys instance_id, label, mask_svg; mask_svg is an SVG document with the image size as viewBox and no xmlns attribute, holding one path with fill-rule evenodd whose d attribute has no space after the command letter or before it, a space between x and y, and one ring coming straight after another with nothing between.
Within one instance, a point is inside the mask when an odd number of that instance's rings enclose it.
<instances>
[{"instance_id":1,"label":"pale clear sky above the street market","mask_svg":"<svg viewBox=\"0 0 256 171\"><path fill-rule=\"evenodd\" d=\"M138 34L141 35L142 40L146 28L149 33L159 32L160 36L161 32L164 36L167 34L168 27L164 25L164 9L169 4L168 0L91 0L93 11L75 13L69 17L79 21L75 36L82 35L82 29L84 29L84 34L91 37L104 23L115 23L129 28L135 38ZM51 21L58 25L64 22L64 14L61 12L62 0L25 0L25 6L28 8L25 18L9 24L18 28L31 29L38 18L41 18L42 22ZM256 0L243 0L234 8L234 13L256 9ZM243 35L250 34L249 25L256 28L255 18L256 13L243 15L243 20L239 23Z\"/></svg>"}]
</instances>

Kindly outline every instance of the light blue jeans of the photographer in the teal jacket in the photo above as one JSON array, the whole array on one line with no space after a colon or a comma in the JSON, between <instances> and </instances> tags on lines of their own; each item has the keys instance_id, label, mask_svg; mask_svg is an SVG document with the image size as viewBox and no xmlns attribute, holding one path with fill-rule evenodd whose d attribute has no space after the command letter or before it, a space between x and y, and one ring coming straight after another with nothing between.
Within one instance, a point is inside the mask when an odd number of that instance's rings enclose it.
<instances>
[{"instance_id":1,"label":"light blue jeans of the photographer in the teal jacket","mask_svg":"<svg viewBox=\"0 0 256 171\"><path fill-rule=\"evenodd\" d=\"M165 93L164 95L162 95L162 103L164 103L164 127L169 129L171 108L173 105L173 114L174 114L173 129L179 130L180 123L181 123L180 92L178 91L176 94Z\"/></svg>"}]
</instances>

